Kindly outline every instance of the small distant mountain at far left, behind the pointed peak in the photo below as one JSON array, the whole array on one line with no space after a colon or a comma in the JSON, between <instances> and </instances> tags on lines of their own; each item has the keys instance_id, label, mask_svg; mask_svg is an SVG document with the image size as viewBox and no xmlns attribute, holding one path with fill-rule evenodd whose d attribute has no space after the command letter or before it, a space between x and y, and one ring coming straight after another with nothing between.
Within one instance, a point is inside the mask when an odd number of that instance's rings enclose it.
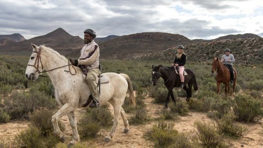
<instances>
[{"instance_id":1,"label":"small distant mountain at far left, behind the pointed peak","mask_svg":"<svg viewBox=\"0 0 263 148\"><path fill-rule=\"evenodd\" d=\"M8 43L20 42L23 40L26 40L26 38L20 34L0 35L0 46Z\"/></svg>"}]
</instances>

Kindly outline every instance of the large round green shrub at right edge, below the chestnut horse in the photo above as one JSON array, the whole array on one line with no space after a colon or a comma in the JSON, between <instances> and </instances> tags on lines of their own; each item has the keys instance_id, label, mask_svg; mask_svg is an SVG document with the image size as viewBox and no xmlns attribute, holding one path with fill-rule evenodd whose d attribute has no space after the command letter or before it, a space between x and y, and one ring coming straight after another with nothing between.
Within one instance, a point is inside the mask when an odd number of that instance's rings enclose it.
<instances>
[{"instance_id":1,"label":"large round green shrub at right edge, below the chestnut horse","mask_svg":"<svg viewBox=\"0 0 263 148\"><path fill-rule=\"evenodd\" d=\"M263 117L261 101L245 94L238 94L234 97L233 111L237 116L237 121L253 122Z\"/></svg>"}]
</instances>

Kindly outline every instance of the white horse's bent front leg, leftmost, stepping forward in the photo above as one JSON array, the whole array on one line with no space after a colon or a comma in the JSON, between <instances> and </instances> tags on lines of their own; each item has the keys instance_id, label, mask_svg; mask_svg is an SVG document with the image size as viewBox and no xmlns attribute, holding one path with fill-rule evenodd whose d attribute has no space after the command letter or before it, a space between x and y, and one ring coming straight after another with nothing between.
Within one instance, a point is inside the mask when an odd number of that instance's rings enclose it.
<instances>
[{"instance_id":1,"label":"white horse's bent front leg, leftmost, stepping forward","mask_svg":"<svg viewBox=\"0 0 263 148\"><path fill-rule=\"evenodd\" d=\"M53 116L52 116L52 124L54 128L54 133L59 136L59 138L64 139L63 132L59 129L58 121L61 117L68 114L69 112L74 111L73 107L69 105L69 103L64 104L60 110L58 110Z\"/></svg>"}]
</instances>

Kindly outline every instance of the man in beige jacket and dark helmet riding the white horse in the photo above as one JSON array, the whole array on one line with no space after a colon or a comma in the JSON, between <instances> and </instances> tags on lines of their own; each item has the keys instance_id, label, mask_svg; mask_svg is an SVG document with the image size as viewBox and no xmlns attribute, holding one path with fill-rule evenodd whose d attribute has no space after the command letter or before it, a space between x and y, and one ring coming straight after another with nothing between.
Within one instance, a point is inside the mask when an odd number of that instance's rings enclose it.
<instances>
[{"instance_id":1,"label":"man in beige jacket and dark helmet riding the white horse","mask_svg":"<svg viewBox=\"0 0 263 148\"><path fill-rule=\"evenodd\" d=\"M74 66L79 66L82 73L87 75L85 81L88 83L93 101L90 104L90 108L99 107L100 92L97 88L96 80L101 74L99 68L99 56L100 48L98 44L93 40L96 37L96 33L92 29L86 29L84 31L85 45L80 51L79 59L70 59L70 62ZM88 96L87 96L88 97Z\"/></svg>"}]
</instances>

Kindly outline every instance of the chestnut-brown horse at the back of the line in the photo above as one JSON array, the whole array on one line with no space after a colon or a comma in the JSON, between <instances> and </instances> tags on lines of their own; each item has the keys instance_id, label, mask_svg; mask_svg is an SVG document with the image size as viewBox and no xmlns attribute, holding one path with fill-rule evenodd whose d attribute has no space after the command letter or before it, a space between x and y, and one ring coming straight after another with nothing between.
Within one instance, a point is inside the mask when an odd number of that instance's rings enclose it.
<instances>
[{"instance_id":1,"label":"chestnut-brown horse at the back of the line","mask_svg":"<svg viewBox=\"0 0 263 148\"><path fill-rule=\"evenodd\" d=\"M212 63L212 70L211 72L214 73L214 71L217 71L217 94L219 94L220 84L225 84L225 95L227 96L227 93L230 95L230 72L229 70L223 65L223 63L220 61L219 58L213 58ZM233 68L234 72L234 81L233 81L233 93L235 93L235 85L236 85L236 70Z\"/></svg>"}]
</instances>

